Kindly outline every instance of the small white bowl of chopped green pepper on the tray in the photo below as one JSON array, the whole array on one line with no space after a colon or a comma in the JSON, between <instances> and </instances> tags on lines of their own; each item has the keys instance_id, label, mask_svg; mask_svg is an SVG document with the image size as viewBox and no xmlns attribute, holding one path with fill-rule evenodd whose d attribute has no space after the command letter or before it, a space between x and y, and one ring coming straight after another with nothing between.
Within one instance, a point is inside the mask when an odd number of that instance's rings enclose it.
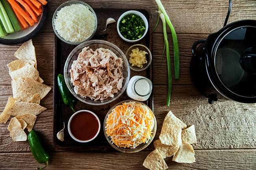
<instances>
[{"instance_id":1,"label":"small white bowl of chopped green pepper on the tray","mask_svg":"<svg viewBox=\"0 0 256 170\"><path fill-rule=\"evenodd\" d=\"M117 32L127 42L138 42L148 31L148 20L139 11L126 11L117 20Z\"/></svg>"}]
</instances>

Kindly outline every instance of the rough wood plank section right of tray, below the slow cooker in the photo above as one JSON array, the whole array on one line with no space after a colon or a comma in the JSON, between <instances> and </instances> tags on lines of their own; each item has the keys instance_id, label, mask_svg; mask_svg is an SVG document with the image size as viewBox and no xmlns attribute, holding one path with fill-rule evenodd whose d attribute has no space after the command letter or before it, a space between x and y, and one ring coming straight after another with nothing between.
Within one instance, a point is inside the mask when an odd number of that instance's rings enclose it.
<instances>
[{"instance_id":1,"label":"rough wood plank section right of tray, below the slow cooker","mask_svg":"<svg viewBox=\"0 0 256 170\"><path fill-rule=\"evenodd\" d=\"M170 107L165 106L167 86L154 86L156 139L171 110L187 125L195 125L196 149L256 148L256 104L233 101L208 104L193 86L173 86Z\"/></svg>"}]
</instances>

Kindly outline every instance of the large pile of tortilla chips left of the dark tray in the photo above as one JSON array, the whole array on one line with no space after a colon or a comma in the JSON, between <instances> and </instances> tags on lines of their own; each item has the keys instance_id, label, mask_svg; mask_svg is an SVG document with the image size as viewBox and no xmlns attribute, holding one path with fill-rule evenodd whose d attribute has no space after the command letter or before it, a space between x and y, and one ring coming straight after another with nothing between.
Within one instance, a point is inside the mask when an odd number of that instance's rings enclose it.
<instances>
[{"instance_id":1,"label":"large pile of tortilla chips left of the dark tray","mask_svg":"<svg viewBox=\"0 0 256 170\"><path fill-rule=\"evenodd\" d=\"M32 40L24 42L15 52L18 59L7 65L11 76L13 97L9 97L4 111L0 115L0 123L6 123L11 118L8 130L14 141L26 141L25 128L31 131L36 115L46 110L39 105L40 100L52 89L43 84L37 71L35 47Z\"/></svg>"}]
</instances>

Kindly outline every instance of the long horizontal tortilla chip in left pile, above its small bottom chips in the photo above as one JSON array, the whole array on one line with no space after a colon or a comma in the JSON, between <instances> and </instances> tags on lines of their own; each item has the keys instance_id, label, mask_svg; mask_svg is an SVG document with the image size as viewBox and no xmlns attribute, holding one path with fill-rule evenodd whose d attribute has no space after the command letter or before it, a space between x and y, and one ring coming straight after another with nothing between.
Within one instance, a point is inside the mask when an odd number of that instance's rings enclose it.
<instances>
[{"instance_id":1,"label":"long horizontal tortilla chip in left pile, above its small bottom chips","mask_svg":"<svg viewBox=\"0 0 256 170\"><path fill-rule=\"evenodd\" d=\"M25 114L38 115L39 113L42 113L45 110L45 107L36 103L16 101L7 113L12 116L19 116Z\"/></svg>"}]
</instances>

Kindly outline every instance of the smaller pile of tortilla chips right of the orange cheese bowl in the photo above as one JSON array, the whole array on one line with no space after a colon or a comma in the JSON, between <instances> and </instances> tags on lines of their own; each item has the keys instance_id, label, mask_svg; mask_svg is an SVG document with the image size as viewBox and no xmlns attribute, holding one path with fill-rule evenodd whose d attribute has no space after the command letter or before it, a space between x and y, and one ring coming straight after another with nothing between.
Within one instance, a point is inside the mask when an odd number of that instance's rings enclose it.
<instances>
[{"instance_id":1,"label":"smaller pile of tortilla chips right of the orange cheese bowl","mask_svg":"<svg viewBox=\"0 0 256 170\"><path fill-rule=\"evenodd\" d=\"M155 150L148 154L143 166L150 170L166 170L166 157L173 156L177 163L195 163L191 144L197 142L195 126L187 127L171 111L165 116L159 139L154 141Z\"/></svg>"}]
</instances>

